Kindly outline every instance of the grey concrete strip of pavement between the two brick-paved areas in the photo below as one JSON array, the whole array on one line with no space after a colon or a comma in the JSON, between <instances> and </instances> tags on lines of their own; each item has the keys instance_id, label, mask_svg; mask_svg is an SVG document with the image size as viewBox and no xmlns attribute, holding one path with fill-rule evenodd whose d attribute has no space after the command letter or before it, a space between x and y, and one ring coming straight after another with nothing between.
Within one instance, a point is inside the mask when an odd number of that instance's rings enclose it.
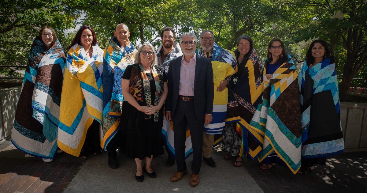
<instances>
[{"instance_id":1,"label":"grey concrete strip of pavement between the two brick-paved areas","mask_svg":"<svg viewBox=\"0 0 367 193\"><path fill-rule=\"evenodd\" d=\"M219 150L219 151L217 151ZM188 174L178 182L171 182L171 176L177 171L175 163L172 167L166 167L167 153L153 158L152 169L157 173L157 178L149 178L144 173L144 181L135 179L135 160L119 154L117 160L119 168L108 167L107 152L93 157L88 156L78 174L73 178L64 193L105 193L105 192L251 192L263 193L259 185L248 174L244 167L234 167L233 161L224 160L225 152L214 149L212 157L217 167L211 168L203 161L200 169L200 183L191 187L192 156L186 159ZM144 164L144 161L143 161Z\"/></svg>"}]
</instances>

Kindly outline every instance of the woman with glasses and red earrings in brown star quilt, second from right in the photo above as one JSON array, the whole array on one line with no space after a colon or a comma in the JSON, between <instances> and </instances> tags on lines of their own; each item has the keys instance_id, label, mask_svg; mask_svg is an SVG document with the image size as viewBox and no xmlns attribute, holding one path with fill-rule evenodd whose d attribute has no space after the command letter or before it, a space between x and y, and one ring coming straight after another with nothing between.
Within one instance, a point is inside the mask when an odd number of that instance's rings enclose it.
<instances>
[{"instance_id":1,"label":"woman with glasses and red earrings in brown star quilt, second from right","mask_svg":"<svg viewBox=\"0 0 367 193\"><path fill-rule=\"evenodd\" d=\"M259 161L261 169L278 164L289 167L295 174L301 167L301 107L297 72L283 42L274 38L268 45L265 60L262 101L249 128L263 136ZM253 148L250 148L253 149Z\"/></svg>"}]
</instances>

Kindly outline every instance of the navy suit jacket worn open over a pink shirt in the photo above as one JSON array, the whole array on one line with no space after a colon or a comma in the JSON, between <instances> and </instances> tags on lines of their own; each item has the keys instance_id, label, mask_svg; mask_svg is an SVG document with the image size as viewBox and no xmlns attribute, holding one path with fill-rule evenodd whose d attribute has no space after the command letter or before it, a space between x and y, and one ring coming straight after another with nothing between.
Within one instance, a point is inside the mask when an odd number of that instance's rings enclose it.
<instances>
[{"instance_id":1,"label":"navy suit jacket worn open over a pink shirt","mask_svg":"<svg viewBox=\"0 0 367 193\"><path fill-rule=\"evenodd\" d=\"M175 114L180 83L181 60L183 56L170 61L168 68L168 96L165 111L171 111L171 118ZM194 105L198 120L204 119L204 114L213 114L214 83L213 68L208 58L196 54Z\"/></svg>"}]
</instances>

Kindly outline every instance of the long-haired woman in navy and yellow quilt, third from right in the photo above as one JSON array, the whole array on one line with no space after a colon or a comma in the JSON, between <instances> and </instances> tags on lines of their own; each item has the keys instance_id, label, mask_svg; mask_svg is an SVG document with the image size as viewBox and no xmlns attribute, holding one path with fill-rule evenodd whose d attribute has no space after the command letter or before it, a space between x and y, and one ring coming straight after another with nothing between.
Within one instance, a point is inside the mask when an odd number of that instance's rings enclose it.
<instances>
[{"instance_id":1,"label":"long-haired woman in navy and yellow quilt, third from right","mask_svg":"<svg viewBox=\"0 0 367 193\"><path fill-rule=\"evenodd\" d=\"M226 124L223 129L222 150L228 152L224 156L225 160L236 158L233 165L240 167L241 157L248 152L248 140L246 140L248 124L262 96L260 89L257 92L262 82L262 67L254 43L248 35L242 35L237 39L235 56L239 70L231 76L228 84L230 105L227 107Z\"/></svg>"}]
</instances>

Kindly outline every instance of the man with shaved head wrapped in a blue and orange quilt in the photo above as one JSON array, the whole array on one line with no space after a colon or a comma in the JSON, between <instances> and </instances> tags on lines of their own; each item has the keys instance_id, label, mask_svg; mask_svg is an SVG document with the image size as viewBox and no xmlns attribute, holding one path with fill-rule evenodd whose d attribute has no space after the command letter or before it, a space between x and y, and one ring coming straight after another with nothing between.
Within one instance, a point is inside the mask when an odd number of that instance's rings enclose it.
<instances>
[{"instance_id":1,"label":"man with shaved head wrapped in a blue and orange quilt","mask_svg":"<svg viewBox=\"0 0 367 193\"><path fill-rule=\"evenodd\" d=\"M137 49L131 44L127 25L116 26L114 36L110 39L103 53L103 142L108 151L108 166L116 169L117 152L122 140L119 131L122 101L121 79L126 67L134 64Z\"/></svg>"}]
</instances>

